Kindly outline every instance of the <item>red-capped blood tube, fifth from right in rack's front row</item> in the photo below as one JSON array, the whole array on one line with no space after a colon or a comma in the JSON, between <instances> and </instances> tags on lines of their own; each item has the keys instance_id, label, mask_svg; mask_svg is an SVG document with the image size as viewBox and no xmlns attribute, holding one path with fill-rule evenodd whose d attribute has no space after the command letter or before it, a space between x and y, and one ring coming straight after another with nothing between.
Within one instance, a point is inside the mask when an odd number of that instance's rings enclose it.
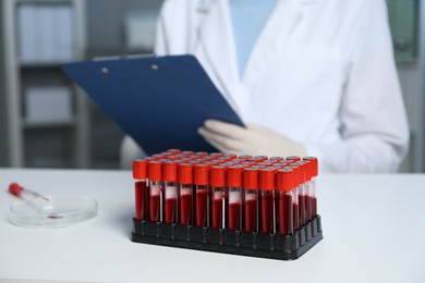
<instances>
[{"instance_id":1,"label":"red-capped blood tube, fifth from right in rack's front row","mask_svg":"<svg viewBox=\"0 0 425 283\"><path fill-rule=\"evenodd\" d=\"M224 185L226 167L216 165L209 170L211 185L211 227L224 229Z\"/></svg>"}]
</instances>

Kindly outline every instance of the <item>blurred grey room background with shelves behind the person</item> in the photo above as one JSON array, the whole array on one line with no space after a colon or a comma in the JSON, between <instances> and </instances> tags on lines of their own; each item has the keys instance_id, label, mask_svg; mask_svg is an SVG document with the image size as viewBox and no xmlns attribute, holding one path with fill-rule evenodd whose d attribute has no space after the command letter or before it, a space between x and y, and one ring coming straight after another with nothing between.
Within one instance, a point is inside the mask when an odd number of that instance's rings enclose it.
<instances>
[{"instance_id":1,"label":"blurred grey room background with shelves behind the person","mask_svg":"<svg viewBox=\"0 0 425 283\"><path fill-rule=\"evenodd\" d=\"M0 2L0 167L118 169L124 133L60 62L151 53L161 0ZM425 171L425 5L387 0L411 143L401 172ZM376 109L379 111L379 109Z\"/></svg>"}]
</instances>

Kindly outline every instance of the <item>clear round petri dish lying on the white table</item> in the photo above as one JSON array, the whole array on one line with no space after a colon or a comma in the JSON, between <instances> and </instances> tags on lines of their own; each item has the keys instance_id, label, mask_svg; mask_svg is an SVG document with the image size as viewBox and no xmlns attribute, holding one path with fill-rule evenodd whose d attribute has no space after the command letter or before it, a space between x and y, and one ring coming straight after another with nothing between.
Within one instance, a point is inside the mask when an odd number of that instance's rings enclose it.
<instances>
[{"instance_id":1,"label":"clear round petri dish lying on the white table","mask_svg":"<svg viewBox=\"0 0 425 283\"><path fill-rule=\"evenodd\" d=\"M10 208L9 221L21 227L64 227L97 216L97 201L88 197L36 197Z\"/></svg>"}]
</instances>

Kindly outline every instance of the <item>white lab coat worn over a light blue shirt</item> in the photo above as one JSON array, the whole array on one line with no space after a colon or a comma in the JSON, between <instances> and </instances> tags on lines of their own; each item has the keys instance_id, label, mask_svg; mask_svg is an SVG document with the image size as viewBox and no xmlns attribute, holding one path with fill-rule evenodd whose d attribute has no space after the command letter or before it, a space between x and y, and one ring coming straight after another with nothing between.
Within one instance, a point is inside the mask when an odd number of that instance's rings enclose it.
<instances>
[{"instance_id":1,"label":"white lab coat worn over a light blue shirt","mask_svg":"<svg viewBox=\"0 0 425 283\"><path fill-rule=\"evenodd\" d=\"M303 144L321 172L394 172L406 153L385 0L278 0L242 77L227 1L166 0L156 53L196 56L243 121Z\"/></svg>"}]
</instances>

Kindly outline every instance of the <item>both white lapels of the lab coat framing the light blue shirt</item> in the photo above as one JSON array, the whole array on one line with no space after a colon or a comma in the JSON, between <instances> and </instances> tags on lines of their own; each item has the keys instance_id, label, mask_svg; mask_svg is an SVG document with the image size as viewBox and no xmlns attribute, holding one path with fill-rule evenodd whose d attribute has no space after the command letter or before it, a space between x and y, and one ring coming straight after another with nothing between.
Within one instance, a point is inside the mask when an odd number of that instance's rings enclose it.
<instances>
[{"instance_id":1,"label":"both white lapels of the lab coat framing the light blue shirt","mask_svg":"<svg viewBox=\"0 0 425 283\"><path fill-rule=\"evenodd\" d=\"M263 57L281 41L282 37L288 37L300 22L303 5L313 4L319 0L279 0L277 7L266 23L257 44L254 46L252 54L246 64L246 73L260 65ZM238 95L240 75L236 62L236 50L231 25L228 0L199 0L196 10L204 14L204 20L199 28L199 40L207 60L214 69L217 79L230 102L235 106L232 96ZM278 22L278 24L276 23ZM279 28L279 38L276 38L276 30ZM230 95L232 94L232 95ZM240 99L239 99L240 100ZM240 100L241 101L241 100Z\"/></svg>"}]
</instances>

